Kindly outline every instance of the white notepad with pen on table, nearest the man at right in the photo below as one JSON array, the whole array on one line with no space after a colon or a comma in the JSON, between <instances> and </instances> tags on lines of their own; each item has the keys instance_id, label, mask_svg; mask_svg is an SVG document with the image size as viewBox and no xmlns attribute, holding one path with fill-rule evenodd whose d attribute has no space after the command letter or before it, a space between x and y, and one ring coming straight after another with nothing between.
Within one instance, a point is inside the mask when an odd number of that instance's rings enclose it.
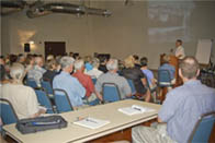
<instances>
[{"instance_id":1,"label":"white notepad with pen on table, nearest the man at right","mask_svg":"<svg viewBox=\"0 0 215 143\"><path fill-rule=\"evenodd\" d=\"M128 115L128 116L133 116L133 115L155 111L155 109L148 108L148 107L143 107L139 105L133 105L132 107L118 108L118 111L121 111L125 115Z\"/></svg>"}]
</instances>

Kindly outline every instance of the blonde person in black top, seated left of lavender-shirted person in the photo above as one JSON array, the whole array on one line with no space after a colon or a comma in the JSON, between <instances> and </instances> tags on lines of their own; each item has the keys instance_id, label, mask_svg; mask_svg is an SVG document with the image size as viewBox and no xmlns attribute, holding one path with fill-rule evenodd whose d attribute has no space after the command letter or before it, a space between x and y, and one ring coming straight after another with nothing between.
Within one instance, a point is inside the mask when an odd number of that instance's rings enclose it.
<instances>
[{"instance_id":1,"label":"blonde person in black top, seated left of lavender-shirted person","mask_svg":"<svg viewBox=\"0 0 215 143\"><path fill-rule=\"evenodd\" d=\"M135 68L135 62L133 56L127 57L124 60L125 69L122 70L122 75L126 79L131 79L134 82L136 88L136 96L138 98L144 98L146 102L150 100L150 92L147 88L145 74Z\"/></svg>"}]
</instances>

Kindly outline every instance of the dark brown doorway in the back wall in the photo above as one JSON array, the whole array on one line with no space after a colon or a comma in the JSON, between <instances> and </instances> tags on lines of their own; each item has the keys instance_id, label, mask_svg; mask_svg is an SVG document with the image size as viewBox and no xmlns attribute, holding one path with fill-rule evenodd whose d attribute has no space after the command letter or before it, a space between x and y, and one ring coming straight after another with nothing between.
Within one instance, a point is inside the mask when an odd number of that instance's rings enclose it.
<instances>
[{"instance_id":1,"label":"dark brown doorway in the back wall","mask_svg":"<svg viewBox=\"0 0 215 143\"><path fill-rule=\"evenodd\" d=\"M45 41L45 58L48 55L53 56L64 56L66 53L66 43L65 41Z\"/></svg>"}]
</instances>

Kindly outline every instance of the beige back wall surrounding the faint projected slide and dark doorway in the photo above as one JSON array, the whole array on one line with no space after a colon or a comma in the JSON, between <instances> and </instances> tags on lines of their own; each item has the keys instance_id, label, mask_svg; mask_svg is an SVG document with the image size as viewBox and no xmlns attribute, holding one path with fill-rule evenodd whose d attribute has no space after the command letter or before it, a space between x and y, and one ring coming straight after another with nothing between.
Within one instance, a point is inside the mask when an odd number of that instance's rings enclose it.
<instances>
[{"instance_id":1,"label":"beige back wall surrounding the faint projected slide and dark doorway","mask_svg":"<svg viewBox=\"0 0 215 143\"><path fill-rule=\"evenodd\" d=\"M5 16L1 24L2 53L23 52L23 44L30 40L35 41L32 45L32 52L36 53L44 53L44 41L66 41L68 52L76 51L82 56L108 52L120 59L137 53L140 57L147 56L149 67L157 69L159 55L169 52L174 47L174 37L184 40L185 52L192 56L195 55L197 39L215 39L215 2L193 2L191 5L194 8L188 15L189 22L186 22L189 37L184 37L184 31L179 29L174 32L173 37L167 34L169 38L167 41L159 41L162 37L157 35L152 38L148 35L150 27L163 26L162 22L149 20L150 3L140 1L133 3L126 7L122 1L90 3L91 7L111 10L113 12L111 17L52 14L27 19L23 12ZM182 5L186 5L186 2ZM181 10L186 9L184 7ZM165 25L170 27L183 22L184 20L176 17Z\"/></svg>"}]
</instances>

